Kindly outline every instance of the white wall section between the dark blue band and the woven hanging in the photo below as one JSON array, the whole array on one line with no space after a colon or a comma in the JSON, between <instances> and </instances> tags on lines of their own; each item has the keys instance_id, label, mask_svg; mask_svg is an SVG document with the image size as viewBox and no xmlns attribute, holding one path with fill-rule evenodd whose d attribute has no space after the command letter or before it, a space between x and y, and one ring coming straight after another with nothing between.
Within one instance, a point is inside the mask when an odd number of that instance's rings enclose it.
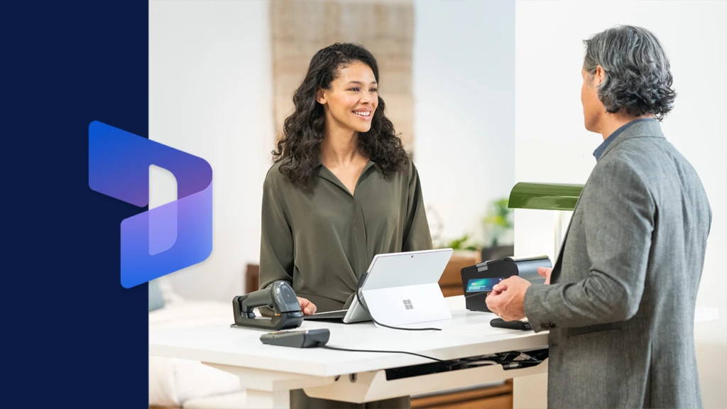
<instances>
[{"instance_id":1,"label":"white wall section between the dark blue band and the woven hanging","mask_svg":"<svg viewBox=\"0 0 727 409\"><path fill-rule=\"evenodd\" d=\"M269 31L265 0L149 2L149 137L213 172L212 255L168 276L186 298L232 301L260 255L274 132ZM172 183L159 180L150 189L169 197Z\"/></svg>"}]
</instances>

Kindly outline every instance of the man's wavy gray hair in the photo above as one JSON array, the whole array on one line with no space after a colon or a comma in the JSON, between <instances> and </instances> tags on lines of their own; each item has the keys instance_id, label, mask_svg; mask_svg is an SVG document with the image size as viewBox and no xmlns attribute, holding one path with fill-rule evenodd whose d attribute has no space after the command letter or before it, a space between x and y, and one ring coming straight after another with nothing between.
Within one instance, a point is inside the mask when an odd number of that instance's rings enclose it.
<instances>
[{"instance_id":1,"label":"man's wavy gray hair","mask_svg":"<svg viewBox=\"0 0 727 409\"><path fill-rule=\"evenodd\" d=\"M654 114L661 121L674 106L669 59L651 31L618 25L583 41L583 68L589 79L601 65L606 76L598 98L606 111L640 116Z\"/></svg>"}]
</instances>

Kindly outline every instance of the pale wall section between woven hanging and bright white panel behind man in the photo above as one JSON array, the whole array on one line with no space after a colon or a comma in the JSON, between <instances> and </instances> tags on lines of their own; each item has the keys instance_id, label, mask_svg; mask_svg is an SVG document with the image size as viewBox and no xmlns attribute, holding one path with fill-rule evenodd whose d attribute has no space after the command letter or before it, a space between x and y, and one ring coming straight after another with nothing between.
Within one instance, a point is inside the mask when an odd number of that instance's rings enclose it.
<instances>
[{"instance_id":1,"label":"pale wall section between woven hanging and bright white panel behind man","mask_svg":"<svg viewBox=\"0 0 727 409\"><path fill-rule=\"evenodd\" d=\"M414 162L446 239L513 187L514 69L515 1L414 1Z\"/></svg>"}]
</instances>

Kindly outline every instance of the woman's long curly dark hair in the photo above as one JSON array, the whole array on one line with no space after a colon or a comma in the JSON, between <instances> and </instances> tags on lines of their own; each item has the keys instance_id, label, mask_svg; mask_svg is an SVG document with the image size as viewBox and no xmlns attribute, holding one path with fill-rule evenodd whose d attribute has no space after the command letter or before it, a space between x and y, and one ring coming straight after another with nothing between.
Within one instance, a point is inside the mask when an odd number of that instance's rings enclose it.
<instances>
[{"instance_id":1,"label":"woman's long curly dark hair","mask_svg":"<svg viewBox=\"0 0 727 409\"><path fill-rule=\"evenodd\" d=\"M293 95L295 111L285 119L283 138L278 141L278 150L273 151L275 162L284 161L280 172L294 185L308 188L325 135L324 108L316 100L316 93L320 89L328 90L337 78L338 70L354 62L369 65L379 82L376 59L358 44L332 44L316 52L310 60L308 73ZM384 108L384 100L379 96L371 129L358 134L358 150L376 162L387 175L387 172L405 170L409 156L395 134L393 124L385 116Z\"/></svg>"}]
</instances>

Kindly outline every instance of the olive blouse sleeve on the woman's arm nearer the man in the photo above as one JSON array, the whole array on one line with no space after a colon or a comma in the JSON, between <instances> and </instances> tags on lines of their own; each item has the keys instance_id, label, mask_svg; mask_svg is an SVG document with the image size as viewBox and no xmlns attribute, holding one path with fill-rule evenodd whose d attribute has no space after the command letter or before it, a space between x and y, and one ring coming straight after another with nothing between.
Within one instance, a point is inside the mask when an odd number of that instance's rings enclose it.
<instances>
[{"instance_id":1,"label":"olive blouse sleeve on the woman's arm nearer the man","mask_svg":"<svg viewBox=\"0 0 727 409\"><path fill-rule=\"evenodd\" d=\"M409 162L409 197L406 204L406 226L402 251L430 250L432 236L427 221L422 183L413 162Z\"/></svg>"}]
</instances>

